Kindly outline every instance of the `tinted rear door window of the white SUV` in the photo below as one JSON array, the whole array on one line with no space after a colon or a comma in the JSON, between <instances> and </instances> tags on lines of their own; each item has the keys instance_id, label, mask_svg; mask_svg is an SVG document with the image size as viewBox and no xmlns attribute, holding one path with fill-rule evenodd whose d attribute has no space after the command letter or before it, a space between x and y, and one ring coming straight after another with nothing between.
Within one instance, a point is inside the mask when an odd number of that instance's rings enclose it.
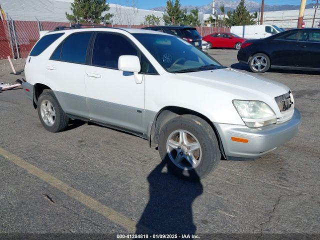
<instances>
[{"instance_id":1,"label":"tinted rear door window of the white SUV","mask_svg":"<svg viewBox=\"0 0 320 240\"><path fill-rule=\"evenodd\" d=\"M80 32L68 36L63 42L60 60L85 63L86 51L91 35L91 32Z\"/></svg>"}]
</instances>

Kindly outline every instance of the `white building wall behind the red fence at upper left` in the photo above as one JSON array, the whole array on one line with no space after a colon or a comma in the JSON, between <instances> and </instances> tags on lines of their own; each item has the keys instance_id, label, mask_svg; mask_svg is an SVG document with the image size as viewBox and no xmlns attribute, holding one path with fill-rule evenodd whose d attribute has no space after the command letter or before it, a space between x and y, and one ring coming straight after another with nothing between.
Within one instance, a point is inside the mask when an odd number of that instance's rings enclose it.
<instances>
[{"instance_id":1,"label":"white building wall behind the red fence at upper left","mask_svg":"<svg viewBox=\"0 0 320 240\"><path fill-rule=\"evenodd\" d=\"M67 22L65 12L72 13L70 10L73 0L1 0L1 7L13 20L35 21L59 21ZM162 11L152 11L138 9L136 7L109 4L112 13L113 24L136 25L144 22L144 16L154 14L161 18ZM103 12L104 15L107 12Z\"/></svg>"}]
</instances>

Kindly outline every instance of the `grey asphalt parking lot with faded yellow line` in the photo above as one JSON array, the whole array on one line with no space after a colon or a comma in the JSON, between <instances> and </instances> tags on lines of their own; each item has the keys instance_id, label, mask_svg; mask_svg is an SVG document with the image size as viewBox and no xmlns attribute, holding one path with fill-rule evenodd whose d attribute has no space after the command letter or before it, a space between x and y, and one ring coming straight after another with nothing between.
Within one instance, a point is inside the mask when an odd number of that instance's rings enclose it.
<instances>
[{"instance_id":1,"label":"grey asphalt parking lot with faded yellow line","mask_svg":"<svg viewBox=\"0 0 320 240\"><path fill-rule=\"evenodd\" d=\"M254 75L236 50L208 53ZM48 132L22 89L1 92L0 233L320 233L320 73L259 76L291 88L297 136L257 160L220 161L201 182L167 173L130 134L82 121Z\"/></svg>"}]
</instances>

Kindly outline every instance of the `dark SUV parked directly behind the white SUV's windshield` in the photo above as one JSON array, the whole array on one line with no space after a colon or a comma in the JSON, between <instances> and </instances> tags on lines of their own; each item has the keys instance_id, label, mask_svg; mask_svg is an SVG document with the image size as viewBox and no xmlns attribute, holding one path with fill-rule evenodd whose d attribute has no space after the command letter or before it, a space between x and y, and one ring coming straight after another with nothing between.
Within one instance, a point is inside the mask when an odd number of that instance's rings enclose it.
<instances>
[{"instance_id":1,"label":"dark SUV parked directly behind the white SUV's windshield","mask_svg":"<svg viewBox=\"0 0 320 240\"><path fill-rule=\"evenodd\" d=\"M171 34L171 35L175 35L175 36L182 38L183 40L186 40L187 42L198 47L199 49L202 49L202 47L201 47L202 37L199 34L199 32L196 30L195 27L190 27L190 26L148 26L148 27L143 27L142 29L160 31L160 32L165 32L165 33Z\"/></svg>"}]
</instances>

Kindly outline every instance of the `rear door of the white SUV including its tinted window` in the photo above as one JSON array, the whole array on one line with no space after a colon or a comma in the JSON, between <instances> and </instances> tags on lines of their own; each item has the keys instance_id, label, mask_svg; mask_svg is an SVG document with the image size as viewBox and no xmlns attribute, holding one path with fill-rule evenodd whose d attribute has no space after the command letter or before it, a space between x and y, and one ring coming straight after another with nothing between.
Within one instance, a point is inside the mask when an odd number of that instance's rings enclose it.
<instances>
[{"instance_id":1,"label":"rear door of the white SUV including its tinted window","mask_svg":"<svg viewBox=\"0 0 320 240\"><path fill-rule=\"evenodd\" d=\"M69 114L88 117L84 76L87 49L92 32L77 32L67 36L55 49L46 64L46 80L62 109Z\"/></svg>"}]
</instances>

